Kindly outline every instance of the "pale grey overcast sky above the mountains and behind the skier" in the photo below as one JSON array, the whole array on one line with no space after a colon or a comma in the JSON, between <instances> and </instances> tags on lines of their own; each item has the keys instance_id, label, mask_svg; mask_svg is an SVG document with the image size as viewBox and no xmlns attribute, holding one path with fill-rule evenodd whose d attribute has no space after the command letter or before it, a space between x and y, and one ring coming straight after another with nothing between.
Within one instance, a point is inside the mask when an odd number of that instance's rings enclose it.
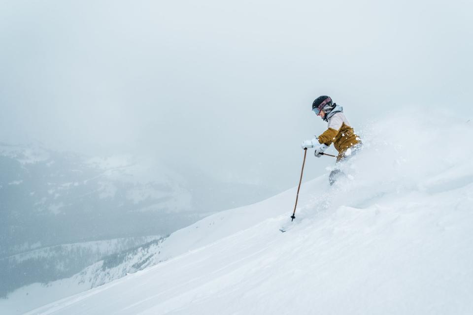
<instances>
[{"instance_id":1,"label":"pale grey overcast sky above the mountains and behind the skier","mask_svg":"<svg viewBox=\"0 0 473 315\"><path fill-rule=\"evenodd\" d=\"M297 185L330 95L472 112L471 1L0 1L0 141ZM400 123L408 122L408 115ZM308 177L332 160L311 157Z\"/></svg>"}]
</instances>

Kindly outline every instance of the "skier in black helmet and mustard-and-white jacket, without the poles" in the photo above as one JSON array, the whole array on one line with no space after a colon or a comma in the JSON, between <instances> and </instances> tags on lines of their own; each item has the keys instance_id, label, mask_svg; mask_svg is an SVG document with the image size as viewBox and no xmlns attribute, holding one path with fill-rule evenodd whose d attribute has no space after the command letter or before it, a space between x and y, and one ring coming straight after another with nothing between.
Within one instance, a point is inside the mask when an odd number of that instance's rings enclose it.
<instances>
[{"instance_id":1,"label":"skier in black helmet and mustard-and-white jacket, without the poles","mask_svg":"<svg viewBox=\"0 0 473 315\"><path fill-rule=\"evenodd\" d=\"M317 97L312 103L312 111L328 123L328 129L317 138L305 140L302 148L315 148L317 158L333 143L338 151L337 163L346 160L361 148L361 139L355 134L348 119L343 114L343 107L332 101L327 95ZM330 185L343 173L337 168L329 175Z\"/></svg>"}]
</instances>

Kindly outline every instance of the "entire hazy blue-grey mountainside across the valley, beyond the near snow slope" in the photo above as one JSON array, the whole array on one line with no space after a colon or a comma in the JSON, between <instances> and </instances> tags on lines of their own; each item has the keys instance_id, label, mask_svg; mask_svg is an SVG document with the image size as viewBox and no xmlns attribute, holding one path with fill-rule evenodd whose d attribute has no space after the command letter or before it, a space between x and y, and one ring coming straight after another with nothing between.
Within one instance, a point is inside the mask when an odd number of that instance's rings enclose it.
<instances>
[{"instance_id":1,"label":"entire hazy blue-grey mountainside across the valley, beyond the near snow slope","mask_svg":"<svg viewBox=\"0 0 473 315\"><path fill-rule=\"evenodd\" d=\"M153 158L88 157L39 144L0 143L0 174L0 298L24 285L74 276L222 204L259 200L247 192L265 190L220 183L189 168L173 171ZM99 243L109 246L101 250ZM111 281L123 274L74 279L89 289L106 282L89 278Z\"/></svg>"}]
</instances>

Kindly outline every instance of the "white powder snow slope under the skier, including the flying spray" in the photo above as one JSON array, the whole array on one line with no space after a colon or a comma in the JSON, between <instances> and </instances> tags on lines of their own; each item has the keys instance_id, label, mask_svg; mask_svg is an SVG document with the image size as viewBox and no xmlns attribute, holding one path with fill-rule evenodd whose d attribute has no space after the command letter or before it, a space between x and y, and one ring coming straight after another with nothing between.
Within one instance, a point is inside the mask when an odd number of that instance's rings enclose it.
<instances>
[{"instance_id":1,"label":"white powder snow slope under the skier, including the flying spray","mask_svg":"<svg viewBox=\"0 0 473 315\"><path fill-rule=\"evenodd\" d=\"M165 261L26 314L473 314L473 126L409 115L365 130L334 187L304 182L294 222L296 188L181 229Z\"/></svg>"}]
</instances>

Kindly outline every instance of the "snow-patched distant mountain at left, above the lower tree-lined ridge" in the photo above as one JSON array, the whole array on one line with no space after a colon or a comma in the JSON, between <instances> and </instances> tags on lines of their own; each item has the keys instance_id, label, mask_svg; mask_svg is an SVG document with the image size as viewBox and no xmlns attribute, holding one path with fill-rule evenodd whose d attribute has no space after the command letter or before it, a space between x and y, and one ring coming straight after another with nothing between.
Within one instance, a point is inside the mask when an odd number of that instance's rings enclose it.
<instances>
[{"instance_id":1,"label":"snow-patched distant mountain at left, above the lower tree-lined ridge","mask_svg":"<svg viewBox=\"0 0 473 315\"><path fill-rule=\"evenodd\" d=\"M198 220L178 176L163 172L142 182L135 175L139 167L127 157L1 144L0 257L64 243L164 235Z\"/></svg>"}]
</instances>

